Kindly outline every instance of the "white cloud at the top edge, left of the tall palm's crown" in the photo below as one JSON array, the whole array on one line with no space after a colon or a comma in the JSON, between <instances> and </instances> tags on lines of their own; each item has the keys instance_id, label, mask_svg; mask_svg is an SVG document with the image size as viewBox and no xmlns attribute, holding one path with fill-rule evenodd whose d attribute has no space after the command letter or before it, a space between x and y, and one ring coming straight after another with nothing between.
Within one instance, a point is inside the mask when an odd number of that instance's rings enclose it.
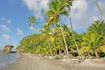
<instances>
[{"instance_id":1,"label":"white cloud at the top edge, left of the tall palm's crown","mask_svg":"<svg viewBox=\"0 0 105 70\"><path fill-rule=\"evenodd\" d=\"M42 18L42 10L48 8L47 4L49 0L23 0L24 4L30 11L33 12L35 17Z\"/></svg>"}]
</instances>

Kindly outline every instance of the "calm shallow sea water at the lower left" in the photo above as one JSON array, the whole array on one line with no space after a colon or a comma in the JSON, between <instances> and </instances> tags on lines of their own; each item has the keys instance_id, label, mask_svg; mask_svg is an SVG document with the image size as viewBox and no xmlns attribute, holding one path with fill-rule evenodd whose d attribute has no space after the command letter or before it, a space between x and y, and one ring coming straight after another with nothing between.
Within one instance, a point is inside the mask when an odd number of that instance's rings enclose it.
<instances>
[{"instance_id":1,"label":"calm shallow sea water at the lower left","mask_svg":"<svg viewBox=\"0 0 105 70\"><path fill-rule=\"evenodd\" d=\"M16 62L16 60L19 57L20 55L18 53L9 53L9 54L0 53L0 69Z\"/></svg>"}]
</instances>

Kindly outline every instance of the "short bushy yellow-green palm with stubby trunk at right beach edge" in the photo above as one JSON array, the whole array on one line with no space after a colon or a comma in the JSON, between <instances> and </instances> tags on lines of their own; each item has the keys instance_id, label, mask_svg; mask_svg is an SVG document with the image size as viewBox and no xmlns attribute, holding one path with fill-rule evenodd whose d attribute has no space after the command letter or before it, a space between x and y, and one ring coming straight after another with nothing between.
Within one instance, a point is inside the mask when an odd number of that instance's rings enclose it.
<instances>
[{"instance_id":1,"label":"short bushy yellow-green palm with stubby trunk at right beach edge","mask_svg":"<svg viewBox=\"0 0 105 70\"><path fill-rule=\"evenodd\" d=\"M95 54L96 57L99 57L98 55L98 48L103 44L103 38L99 35L96 35L89 31L84 37L82 45L85 47L88 47L88 52L90 51L91 54ZM86 49L85 49L86 50Z\"/></svg>"}]
</instances>

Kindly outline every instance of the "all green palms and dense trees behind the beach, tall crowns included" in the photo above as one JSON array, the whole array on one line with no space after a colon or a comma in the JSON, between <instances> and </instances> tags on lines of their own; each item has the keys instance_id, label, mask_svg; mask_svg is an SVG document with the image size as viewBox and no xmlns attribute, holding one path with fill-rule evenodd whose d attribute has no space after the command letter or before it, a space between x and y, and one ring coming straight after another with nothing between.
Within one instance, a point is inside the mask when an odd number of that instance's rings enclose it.
<instances>
[{"instance_id":1,"label":"all green palms and dense trees behind the beach, tall crowns included","mask_svg":"<svg viewBox=\"0 0 105 70\"><path fill-rule=\"evenodd\" d=\"M48 4L49 10L43 13L47 15L47 24L43 24L43 28L39 29L40 34L24 37L17 51L52 56L73 55L71 52L77 52L78 56L105 56L104 21L94 21L87 32L76 33L70 16L72 2L73 0L51 0ZM71 27L61 24L62 16L70 19ZM29 26L37 23L34 16L29 17L28 22Z\"/></svg>"}]
</instances>

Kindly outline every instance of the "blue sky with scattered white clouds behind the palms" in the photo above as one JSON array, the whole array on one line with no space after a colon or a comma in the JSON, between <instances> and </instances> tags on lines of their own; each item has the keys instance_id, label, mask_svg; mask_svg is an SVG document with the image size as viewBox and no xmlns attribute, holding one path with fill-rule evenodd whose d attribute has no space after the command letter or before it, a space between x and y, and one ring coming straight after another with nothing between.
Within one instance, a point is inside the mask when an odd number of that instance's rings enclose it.
<instances>
[{"instance_id":1,"label":"blue sky with scattered white clouds behind the palms","mask_svg":"<svg viewBox=\"0 0 105 70\"><path fill-rule=\"evenodd\" d=\"M97 2L105 15L105 0ZM46 23L43 12L48 9L48 3L49 0L0 0L0 49L5 45L16 48L25 36L39 33L37 29ZM102 20L94 0L75 0L70 13L77 33L86 32L94 21ZM30 16L35 16L35 26L29 27ZM70 27L68 17L62 16L61 24Z\"/></svg>"}]
</instances>

